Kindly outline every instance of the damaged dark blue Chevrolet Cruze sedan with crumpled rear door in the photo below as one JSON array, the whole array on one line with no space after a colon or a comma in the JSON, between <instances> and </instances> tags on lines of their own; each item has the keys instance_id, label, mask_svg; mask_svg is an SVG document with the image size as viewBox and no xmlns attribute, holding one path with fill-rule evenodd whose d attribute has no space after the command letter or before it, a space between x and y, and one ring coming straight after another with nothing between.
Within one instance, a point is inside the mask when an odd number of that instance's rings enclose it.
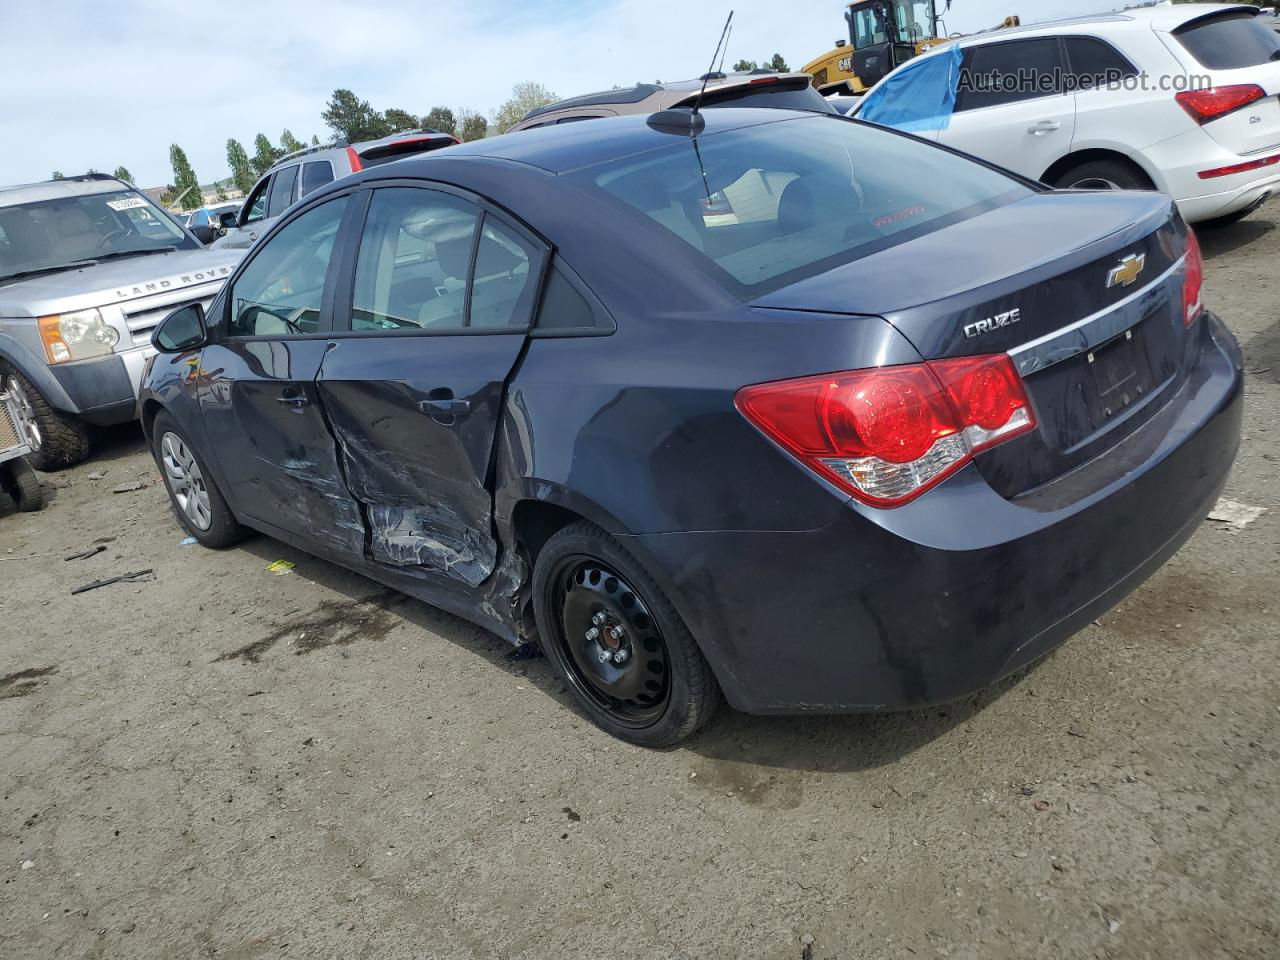
<instances>
[{"instance_id":1,"label":"damaged dark blue Chevrolet Cruze sedan with crumpled rear door","mask_svg":"<svg viewBox=\"0 0 1280 960\"><path fill-rule=\"evenodd\" d=\"M910 708L1036 660L1196 530L1235 340L1169 197L841 116L497 137L298 204L156 333L179 521L536 637L650 746L719 700Z\"/></svg>"}]
</instances>

